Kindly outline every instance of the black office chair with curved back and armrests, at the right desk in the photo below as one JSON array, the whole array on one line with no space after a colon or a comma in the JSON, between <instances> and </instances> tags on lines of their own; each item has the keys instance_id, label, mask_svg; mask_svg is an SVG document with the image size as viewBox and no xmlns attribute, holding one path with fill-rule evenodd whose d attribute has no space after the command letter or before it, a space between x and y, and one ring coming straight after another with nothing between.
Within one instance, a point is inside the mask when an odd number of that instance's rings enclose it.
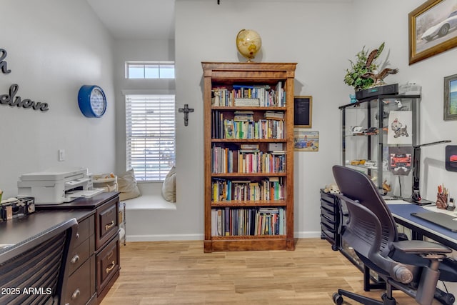
<instances>
[{"instance_id":1,"label":"black office chair with curved back and armrests, at the right desk","mask_svg":"<svg viewBox=\"0 0 457 305\"><path fill-rule=\"evenodd\" d=\"M343 296L362 304L394 305L393 287L429 305L435 296L443 304L453 304L452 294L436 290L438 279L457 281L456 267L440 264L451 249L428 241L399 241L395 221L373 181L360 171L345 166L333 166L333 176L346 203L348 223L341 238L351 246L363 264L386 282L382 301L338 289L333 294L335 304Z\"/></svg>"}]
</instances>

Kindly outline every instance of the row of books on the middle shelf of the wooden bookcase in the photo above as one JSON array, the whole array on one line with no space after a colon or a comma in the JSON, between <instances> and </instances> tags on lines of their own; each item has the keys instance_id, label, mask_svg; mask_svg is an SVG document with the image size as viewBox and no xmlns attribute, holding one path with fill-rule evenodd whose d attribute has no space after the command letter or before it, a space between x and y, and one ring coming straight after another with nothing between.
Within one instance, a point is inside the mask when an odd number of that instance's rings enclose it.
<instances>
[{"instance_id":1,"label":"row of books on the middle shelf of the wooden bookcase","mask_svg":"<svg viewBox=\"0 0 457 305\"><path fill-rule=\"evenodd\" d=\"M258 149L211 149L211 170L221 173L282 173L286 171L286 152L263 152Z\"/></svg>"}]
</instances>

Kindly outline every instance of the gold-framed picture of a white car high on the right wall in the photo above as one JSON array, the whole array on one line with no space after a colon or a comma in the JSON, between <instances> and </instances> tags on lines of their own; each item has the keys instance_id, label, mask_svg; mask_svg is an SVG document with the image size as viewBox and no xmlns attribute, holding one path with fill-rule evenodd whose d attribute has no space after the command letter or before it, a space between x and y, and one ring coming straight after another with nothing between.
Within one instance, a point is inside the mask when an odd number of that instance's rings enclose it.
<instances>
[{"instance_id":1,"label":"gold-framed picture of a white car high on the right wall","mask_svg":"<svg viewBox=\"0 0 457 305\"><path fill-rule=\"evenodd\" d=\"M428 0L408 14L409 64L457 46L456 0Z\"/></svg>"}]
</instances>

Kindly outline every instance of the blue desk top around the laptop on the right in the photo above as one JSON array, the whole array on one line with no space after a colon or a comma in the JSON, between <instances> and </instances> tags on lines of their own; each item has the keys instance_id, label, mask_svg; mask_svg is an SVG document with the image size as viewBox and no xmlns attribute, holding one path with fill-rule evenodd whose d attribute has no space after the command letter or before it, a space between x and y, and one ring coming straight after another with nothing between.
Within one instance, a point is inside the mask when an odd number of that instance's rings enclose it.
<instances>
[{"instance_id":1,"label":"blue desk top around the laptop on the right","mask_svg":"<svg viewBox=\"0 0 457 305\"><path fill-rule=\"evenodd\" d=\"M421 213L430 211L430 209L426 209L423 206L418 206L416 204L409 204L408 202L405 202L404 204L398 202L389 204L389 202L386 201L386 204L398 224L406 226L408 229L457 250L457 232L453 232L416 216L411 216L411 213L413 212Z\"/></svg>"}]
</instances>

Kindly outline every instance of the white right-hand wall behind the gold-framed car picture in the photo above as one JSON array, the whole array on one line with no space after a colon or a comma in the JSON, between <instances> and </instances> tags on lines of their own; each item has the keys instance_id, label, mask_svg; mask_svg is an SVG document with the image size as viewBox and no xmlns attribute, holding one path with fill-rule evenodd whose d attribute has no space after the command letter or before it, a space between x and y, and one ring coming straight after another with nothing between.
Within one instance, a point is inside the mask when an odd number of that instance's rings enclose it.
<instances>
[{"instance_id":1,"label":"white right-hand wall behind the gold-framed car picture","mask_svg":"<svg viewBox=\"0 0 457 305\"><path fill-rule=\"evenodd\" d=\"M443 78L457 73L454 64L457 49L408 65L408 13L423 4L423 1L387 0L381 4L373 0L356 0L354 4L354 15L358 16L361 25L356 31L358 47L363 44L377 46L379 41L386 41L386 48L390 51L389 61L392 66L400 69L398 74L388 76L386 80L400 84L414 81L422 86L419 143L451 140L451 145L457 145L457 121L443 121ZM366 14L367 11L370 14ZM383 21L385 19L388 21ZM457 176L456 172L446 171L445 148L446 144L421 149L423 198L436 200L436 186L442 183L449 188L451 196L457 196Z\"/></svg>"}]
</instances>

